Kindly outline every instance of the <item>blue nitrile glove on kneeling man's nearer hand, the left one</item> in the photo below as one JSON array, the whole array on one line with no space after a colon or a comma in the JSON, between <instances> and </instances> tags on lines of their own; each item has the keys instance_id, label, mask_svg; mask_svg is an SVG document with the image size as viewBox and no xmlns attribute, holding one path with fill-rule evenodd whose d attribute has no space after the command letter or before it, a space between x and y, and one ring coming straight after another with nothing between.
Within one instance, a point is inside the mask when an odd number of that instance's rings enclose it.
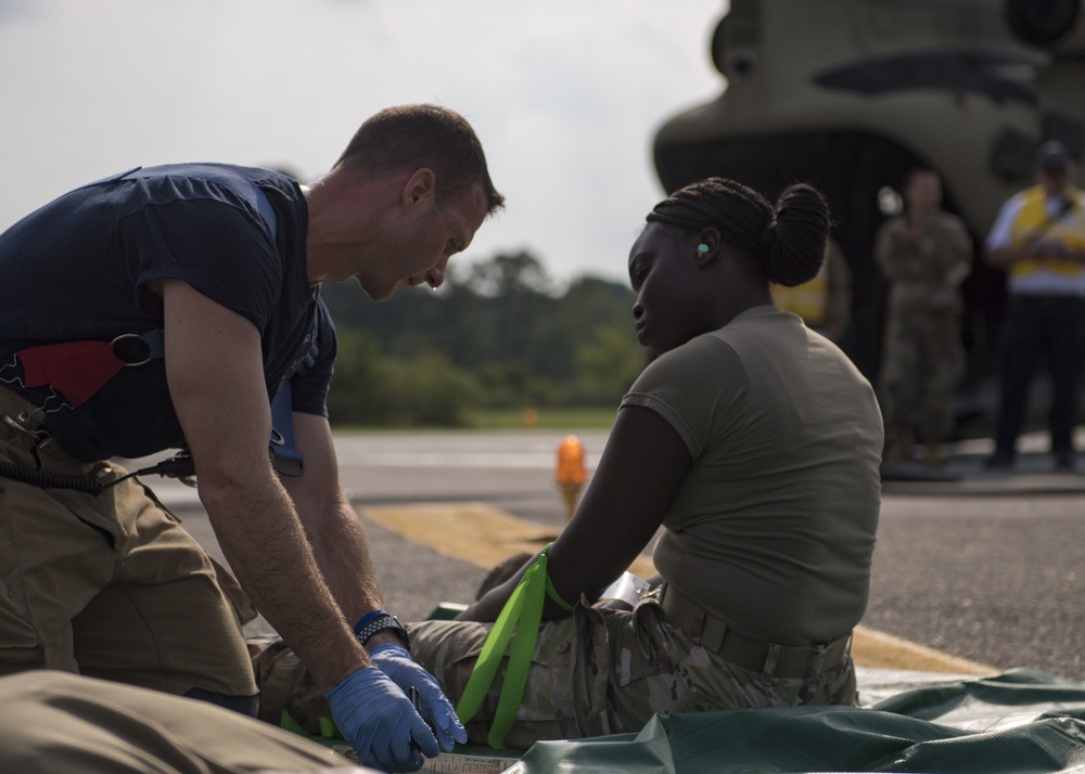
<instances>
[{"instance_id":1,"label":"blue nitrile glove on kneeling man's nearer hand, the left one","mask_svg":"<svg viewBox=\"0 0 1085 774\"><path fill-rule=\"evenodd\" d=\"M367 766L417 772L441 750L430 726L380 669L367 667L324 694L332 720ZM412 747L413 744L413 747Z\"/></svg>"}]
</instances>

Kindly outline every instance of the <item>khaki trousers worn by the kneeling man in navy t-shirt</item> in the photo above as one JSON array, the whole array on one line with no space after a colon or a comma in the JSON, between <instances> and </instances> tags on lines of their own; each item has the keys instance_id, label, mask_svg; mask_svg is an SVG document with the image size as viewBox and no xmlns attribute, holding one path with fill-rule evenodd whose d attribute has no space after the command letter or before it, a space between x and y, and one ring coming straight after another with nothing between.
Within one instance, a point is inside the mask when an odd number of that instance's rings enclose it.
<instances>
[{"instance_id":1,"label":"khaki trousers worn by the kneeling man in navy t-shirt","mask_svg":"<svg viewBox=\"0 0 1085 774\"><path fill-rule=\"evenodd\" d=\"M30 409L0 387L0 412ZM125 475L7 423L0 461L103 483ZM0 675L51 668L253 696L241 624L254 616L233 577L138 479L95 496L0 477Z\"/></svg>"}]
</instances>

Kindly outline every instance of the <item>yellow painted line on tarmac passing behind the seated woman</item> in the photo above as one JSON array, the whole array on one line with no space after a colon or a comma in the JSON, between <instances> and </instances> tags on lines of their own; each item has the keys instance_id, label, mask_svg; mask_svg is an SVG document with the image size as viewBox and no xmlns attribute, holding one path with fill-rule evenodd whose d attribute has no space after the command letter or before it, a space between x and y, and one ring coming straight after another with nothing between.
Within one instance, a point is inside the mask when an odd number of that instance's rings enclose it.
<instances>
[{"instance_id":1,"label":"yellow painted line on tarmac passing behind the seated woman","mask_svg":"<svg viewBox=\"0 0 1085 774\"><path fill-rule=\"evenodd\" d=\"M359 512L363 518L413 543L485 569L512 554L533 554L558 537L558 530L548 530L483 503L380 505L359 508ZM655 573L655 566L651 557L639 556L629 571L648 578ZM948 674L995 674L999 671L863 625L855 628L852 654L856 665L872 669Z\"/></svg>"}]
</instances>

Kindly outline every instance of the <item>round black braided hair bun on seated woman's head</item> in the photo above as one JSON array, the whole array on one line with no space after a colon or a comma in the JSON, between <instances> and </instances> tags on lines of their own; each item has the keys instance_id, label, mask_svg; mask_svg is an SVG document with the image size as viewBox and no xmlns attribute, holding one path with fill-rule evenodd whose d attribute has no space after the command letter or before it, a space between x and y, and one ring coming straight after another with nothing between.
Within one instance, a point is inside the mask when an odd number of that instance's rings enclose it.
<instances>
[{"instance_id":1,"label":"round black braided hair bun on seated woman's head","mask_svg":"<svg viewBox=\"0 0 1085 774\"><path fill-rule=\"evenodd\" d=\"M805 183L776 201L776 216L762 235L762 267L769 282L789 287L813 280L825 262L829 206Z\"/></svg>"}]
</instances>

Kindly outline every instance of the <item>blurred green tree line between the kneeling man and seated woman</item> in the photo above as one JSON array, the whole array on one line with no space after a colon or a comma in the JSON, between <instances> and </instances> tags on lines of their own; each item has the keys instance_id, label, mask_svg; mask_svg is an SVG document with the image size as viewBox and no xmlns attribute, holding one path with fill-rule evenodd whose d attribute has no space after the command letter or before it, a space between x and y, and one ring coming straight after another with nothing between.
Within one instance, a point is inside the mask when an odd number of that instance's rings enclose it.
<instances>
[{"instance_id":1,"label":"blurred green tree line between the kneeling man and seated woman","mask_svg":"<svg viewBox=\"0 0 1085 774\"><path fill-rule=\"evenodd\" d=\"M584 275L557 293L526 251L450 271L437 293L380 304L324 285L339 334L336 425L444 425L473 409L610 407L647 362L627 285Z\"/></svg>"}]
</instances>

